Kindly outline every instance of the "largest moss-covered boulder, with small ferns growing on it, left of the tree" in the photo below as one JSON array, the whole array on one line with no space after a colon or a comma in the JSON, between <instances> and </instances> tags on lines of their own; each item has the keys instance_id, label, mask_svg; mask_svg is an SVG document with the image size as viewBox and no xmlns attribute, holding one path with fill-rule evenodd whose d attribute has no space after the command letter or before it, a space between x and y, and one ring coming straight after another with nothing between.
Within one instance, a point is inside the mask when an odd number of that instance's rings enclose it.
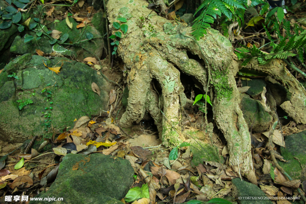
<instances>
[{"instance_id":1,"label":"largest moss-covered boulder, with small ferns growing on it, left of the tree","mask_svg":"<svg viewBox=\"0 0 306 204\"><path fill-rule=\"evenodd\" d=\"M59 67L56 74L48 67ZM9 77L9 75L14 75ZM101 94L93 92L95 82ZM24 141L53 128L73 126L76 118L106 110L110 86L88 65L64 57L24 54L0 74L0 139ZM43 93L42 93L43 92ZM33 102L33 103L31 103ZM27 104L28 103L28 104Z\"/></svg>"}]
</instances>

